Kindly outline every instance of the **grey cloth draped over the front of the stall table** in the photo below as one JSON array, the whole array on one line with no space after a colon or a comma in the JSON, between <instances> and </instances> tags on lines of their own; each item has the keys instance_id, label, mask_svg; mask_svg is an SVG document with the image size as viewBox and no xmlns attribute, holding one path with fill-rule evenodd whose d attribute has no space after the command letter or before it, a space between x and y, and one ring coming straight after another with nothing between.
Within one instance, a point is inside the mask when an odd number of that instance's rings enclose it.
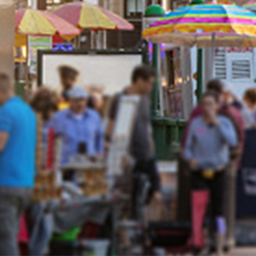
<instances>
[{"instance_id":1,"label":"grey cloth draped over the front of the stall table","mask_svg":"<svg viewBox=\"0 0 256 256\"><path fill-rule=\"evenodd\" d=\"M49 200L29 207L29 254L42 255L52 234L63 234L84 223L103 225L111 214L111 196Z\"/></svg>"}]
</instances>

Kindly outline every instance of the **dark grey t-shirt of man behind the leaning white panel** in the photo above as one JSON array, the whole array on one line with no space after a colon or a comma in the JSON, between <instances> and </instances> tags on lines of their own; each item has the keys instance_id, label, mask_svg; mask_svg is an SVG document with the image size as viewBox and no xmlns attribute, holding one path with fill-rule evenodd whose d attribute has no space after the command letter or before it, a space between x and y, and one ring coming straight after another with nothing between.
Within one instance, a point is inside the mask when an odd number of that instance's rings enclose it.
<instances>
[{"instance_id":1,"label":"dark grey t-shirt of man behind the leaning white panel","mask_svg":"<svg viewBox=\"0 0 256 256\"><path fill-rule=\"evenodd\" d=\"M125 92L120 93L119 95L116 95L115 99L113 99L109 111L109 118L111 120L116 120L120 97L125 94ZM150 100L146 95L141 97L140 103L138 104L136 118L134 121L134 128L130 141L130 153L135 159L148 160L154 157L151 130Z\"/></svg>"}]
</instances>

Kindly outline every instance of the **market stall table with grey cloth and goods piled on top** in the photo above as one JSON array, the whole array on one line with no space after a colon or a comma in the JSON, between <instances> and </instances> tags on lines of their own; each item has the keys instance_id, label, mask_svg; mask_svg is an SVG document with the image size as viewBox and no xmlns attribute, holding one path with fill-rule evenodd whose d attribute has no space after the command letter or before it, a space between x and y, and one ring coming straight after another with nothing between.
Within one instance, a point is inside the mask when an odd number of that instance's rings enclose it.
<instances>
[{"instance_id":1,"label":"market stall table with grey cloth and goods piled on top","mask_svg":"<svg viewBox=\"0 0 256 256\"><path fill-rule=\"evenodd\" d=\"M53 198L31 204L29 209L31 222L29 254L31 255L42 255L51 241L52 234L65 234L72 228L81 227L84 223L101 226L112 214L113 200L108 192L107 180L104 180L104 163L92 161L86 156L76 156L70 164L63 166L61 172L65 173L68 170L76 173L77 182L61 182L62 188L64 190L69 188L71 191L77 189L81 193L77 195L74 193L76 196L73 197L67 196L67 193L65 195L64 192L63 195L67 198L65 200L62 196L62 199ZM93 195L90 195L90 191L85 187L92 188L93 180L89 182L86 179L96 179L95 182L103 184L104 189L96 189L99 193L94 189ZM82 189L77 185L79 182L82 184Z\"/></svg>"}]
</instances>

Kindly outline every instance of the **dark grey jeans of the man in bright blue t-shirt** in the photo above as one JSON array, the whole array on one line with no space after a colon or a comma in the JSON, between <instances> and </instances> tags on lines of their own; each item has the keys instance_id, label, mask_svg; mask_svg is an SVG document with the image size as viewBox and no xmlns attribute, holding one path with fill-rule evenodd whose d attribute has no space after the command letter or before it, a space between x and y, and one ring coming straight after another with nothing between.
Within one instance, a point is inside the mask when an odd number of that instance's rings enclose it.
<instances>
[{"instance_id":1,"label":"dark grey jeans of the man in bright blue t-shirt","mask_svg":"<svg viewBox=\"0 0 256 256\"><path fill-rule=\"evenodd\" d=\"M31 189L0 188L0 255L19 255L20 217L29 203Z\"/></svg>"}]
</instances>

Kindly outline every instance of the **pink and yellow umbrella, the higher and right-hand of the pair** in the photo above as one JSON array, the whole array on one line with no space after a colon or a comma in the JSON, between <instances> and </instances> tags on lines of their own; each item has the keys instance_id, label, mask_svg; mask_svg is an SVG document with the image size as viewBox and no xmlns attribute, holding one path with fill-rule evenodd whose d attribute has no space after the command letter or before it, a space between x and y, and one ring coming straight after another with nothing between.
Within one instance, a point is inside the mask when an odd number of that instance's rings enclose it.
<instances>
[{"instance_id":1,"label":"pink and yellow umbrella, the higher and right-hand of the pair","mask_svg":"<svg viewBox=\"0 0 256 256\"><path fill-rule=\"evenodd\" d=\"M54 14L78 28L95 30L132 30L134 26L127 20L100 6L79 1L65 4Z\"/></svg>"}]
</instances>

